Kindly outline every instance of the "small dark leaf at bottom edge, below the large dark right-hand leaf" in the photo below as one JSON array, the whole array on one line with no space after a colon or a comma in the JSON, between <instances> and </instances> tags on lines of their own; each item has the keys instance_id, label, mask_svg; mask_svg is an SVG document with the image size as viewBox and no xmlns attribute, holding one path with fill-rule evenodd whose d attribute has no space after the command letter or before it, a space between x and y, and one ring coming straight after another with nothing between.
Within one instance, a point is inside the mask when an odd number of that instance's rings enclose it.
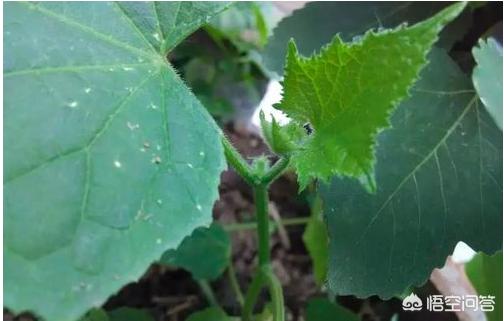
<instances>
[{"instance_id":1,"label":"small dark leaf at bottom edge, below the large dark right-hand leaf","mask_svg":"<svg viewBox=\"0 0 504 321\"><path fill-rule=\"evenodd\" d=\"M306 308L306 321L358 321L359 316L328 299L311 299Z\"/></svg>"}]
</instances>

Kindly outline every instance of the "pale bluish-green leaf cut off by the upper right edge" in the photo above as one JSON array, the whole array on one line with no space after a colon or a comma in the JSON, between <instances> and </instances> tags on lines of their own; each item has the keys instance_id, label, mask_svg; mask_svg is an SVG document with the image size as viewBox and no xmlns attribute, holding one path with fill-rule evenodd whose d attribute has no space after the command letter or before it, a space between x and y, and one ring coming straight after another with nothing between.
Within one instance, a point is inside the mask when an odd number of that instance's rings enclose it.
<instances>
[{"instance_id":1,"label":"pale bluish-green leaf cut off by the upper right edge","mask_svg":"<svg viewBox=\"0 0 504 321\"><path fill-rule=\"evenodd\" d=\"M473 71L474 87L481 101L502 129L502 47L493 38L479 41L474 47L477 66Z\"/></svg>"}]
</instances>

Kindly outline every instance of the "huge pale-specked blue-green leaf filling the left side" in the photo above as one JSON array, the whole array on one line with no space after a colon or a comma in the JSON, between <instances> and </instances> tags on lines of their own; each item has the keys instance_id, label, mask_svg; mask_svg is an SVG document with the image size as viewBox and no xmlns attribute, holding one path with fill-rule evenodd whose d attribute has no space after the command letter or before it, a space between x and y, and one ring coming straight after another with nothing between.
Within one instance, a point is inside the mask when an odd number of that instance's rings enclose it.
<instances>
[{"instance_id":1,"label":"huge pale-specked blue-green leaf filling the left side","mask_svg":"<svg viewBox=\"0 0 504 321\"><path fill-rule=\"evenodd\" d=\"M220 132L164 53L222 7L4 6L7 307L75 320L210 223Z\"/></svg>"}]
</instances>

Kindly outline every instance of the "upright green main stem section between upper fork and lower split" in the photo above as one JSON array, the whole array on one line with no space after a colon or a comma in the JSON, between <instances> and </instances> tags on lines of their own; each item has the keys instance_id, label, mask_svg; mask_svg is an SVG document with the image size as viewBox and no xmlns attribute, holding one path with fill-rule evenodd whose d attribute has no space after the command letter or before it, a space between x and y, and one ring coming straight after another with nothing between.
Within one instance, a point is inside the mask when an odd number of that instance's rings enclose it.
<instances>
[{"instance_id":1,"label":"upright green main stem section between upper fork and lower split","mask_svg":"<svg viewBox=\"0 0 504 321\"><path fill-rule=\"evenodd\" d=\"M254 186L254 200L259 243L259 265L262 266L270 262L268 190L265 185Z\"/></svg>"}]
</instances>

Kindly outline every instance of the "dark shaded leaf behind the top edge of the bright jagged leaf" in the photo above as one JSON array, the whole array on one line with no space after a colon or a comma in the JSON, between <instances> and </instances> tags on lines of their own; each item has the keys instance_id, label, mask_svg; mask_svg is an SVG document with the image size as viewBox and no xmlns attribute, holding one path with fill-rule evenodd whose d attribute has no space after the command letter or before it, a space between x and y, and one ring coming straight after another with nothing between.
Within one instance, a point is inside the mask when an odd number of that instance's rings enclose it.
<instances>
[{"instance_id":1,"label":"dark shaded leaf behind the top edge of the bright jagged leaf","mask_svg":"<svg viewBox=\"0 0 504 321\"><path fill-rule=\"evenodd\" d=\"M422 21L448 5L447 2L310 2L283 19L262 53L266 67L283 74L287 43L294 38L302 55L310 56L338 33L344 41L371 28L392 28L403 22ZM471 26L471 13L465 12L440 34L449 48Z\"/></svg>"}]
</instances>

